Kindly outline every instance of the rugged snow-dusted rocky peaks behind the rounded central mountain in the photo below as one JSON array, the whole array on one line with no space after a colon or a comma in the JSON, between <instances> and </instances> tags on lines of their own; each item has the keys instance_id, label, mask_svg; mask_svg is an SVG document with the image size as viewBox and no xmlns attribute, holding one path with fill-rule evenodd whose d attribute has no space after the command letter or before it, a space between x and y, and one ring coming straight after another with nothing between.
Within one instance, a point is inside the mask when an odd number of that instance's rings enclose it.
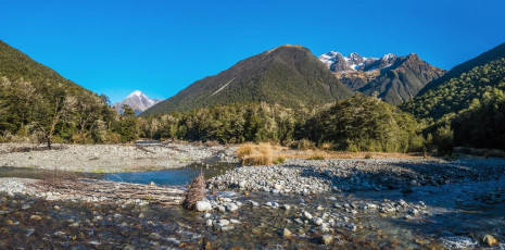
<instances>
[{"instance_id":1,"label":"rugged snow-dusted rocky peaks behind the rounded central mountain","mask_svg":"<svg viewBox=\"0 0 505 250\"><path fill-rule=\"evenodd\" d=\"M351 89L376 96L392 104L414 98L429 82L445 73L415 53L405 57L388 53L382 58L366 58L358 53L343 57L330 51L319 55L319 60Z\"/></svg>"}]
</instances>

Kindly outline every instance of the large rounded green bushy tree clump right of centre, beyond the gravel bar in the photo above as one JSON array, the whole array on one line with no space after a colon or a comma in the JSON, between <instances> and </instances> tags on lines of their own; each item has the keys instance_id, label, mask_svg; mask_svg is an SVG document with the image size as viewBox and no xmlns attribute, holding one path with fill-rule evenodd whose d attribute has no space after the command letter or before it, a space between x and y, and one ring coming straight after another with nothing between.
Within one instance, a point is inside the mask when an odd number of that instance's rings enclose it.
<instances>
[{"instance_id":1,"label":"large rounded green bushy tree clump right of centre, beyond the gravel bar","mask_svg":"<svg viewBox=\"0 0 505 250\"><path fill-rule=\"evenodd\" d=\"M310 138L349 151L406 152L422 148L420 126L409 114L377 98L338 101L306 124Z\"/></svg>"}]
</instances>

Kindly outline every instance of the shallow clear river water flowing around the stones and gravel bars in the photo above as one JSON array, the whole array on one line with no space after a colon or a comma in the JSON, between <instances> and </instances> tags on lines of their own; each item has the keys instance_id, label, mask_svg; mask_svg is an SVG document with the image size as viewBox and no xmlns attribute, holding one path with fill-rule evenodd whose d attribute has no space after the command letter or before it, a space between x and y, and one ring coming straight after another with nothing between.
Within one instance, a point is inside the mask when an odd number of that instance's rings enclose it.
<instances>
[{"instance_id":1,"label":"shallow clear river water flowing around the stones and gravel bars","mask_svg":"<svg viewBox=\"0 0 505 250\"><path fill-rule=\"evenodd\" d=\"M186 185L203 172L212 177L232 167L216 164L209 168L190 165L182 170L146 173L83 174L83 176L157 185ZM38 178L37 170L2 168L0 177ZM218 192L244 203L237 212L212 212L219 218L241 222L231 232L216 232L205 225L202 213L159 205L115 205L46 201L30 197L0 195L0 248L254 248L254 249L475 249L491 234L505 242L505 177L489 182L450 184L439 187L400 190L282 196L240 191ZM213 199L213 197L210 197ZM382 214L376 210L349 213L336 203L381 203L384 200L426 203L426 213L406 220L405 213ZM245 204L276 201L294 209L281 210ZM319 207L319 208L318 208ZM301 210L314 215L338 214L357 225L355 232L337 228L336 242L320 245L320 233L311 225L299 225ZM36 216L40 216L40 220ZM292 237L283 238L288 228ZM495 247L505 249L505 245Z\"/></svg>"}]
</instances>

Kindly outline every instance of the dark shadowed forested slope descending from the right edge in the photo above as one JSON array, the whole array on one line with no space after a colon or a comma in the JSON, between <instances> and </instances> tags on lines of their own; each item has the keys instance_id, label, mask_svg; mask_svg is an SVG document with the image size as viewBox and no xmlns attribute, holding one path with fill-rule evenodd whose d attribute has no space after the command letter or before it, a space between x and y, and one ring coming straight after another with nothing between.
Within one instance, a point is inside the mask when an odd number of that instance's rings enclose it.
<instances>
[{"instance_id":1,"label":"dark shadowed forested slope descending from the right edge","mask_svg":"<svg viewBox=\"0 0 505 250\"><path fill-rule=\"evenodd\" d=\"M447 75L457 76L430 83L427 90L404 103L402 109L417 117L438 120L467 109L475 99L482 99L493 88L505 90L505 46L455 66Z\"/></svg>"}]
</instances>

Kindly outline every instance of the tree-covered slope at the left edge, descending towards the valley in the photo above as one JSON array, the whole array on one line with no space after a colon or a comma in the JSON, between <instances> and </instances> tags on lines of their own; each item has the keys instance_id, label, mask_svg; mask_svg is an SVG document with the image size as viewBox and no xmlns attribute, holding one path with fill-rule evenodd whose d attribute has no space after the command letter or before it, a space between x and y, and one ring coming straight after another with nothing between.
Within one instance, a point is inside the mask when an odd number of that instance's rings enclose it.
<instances>
[{"instance_id":1,"label":"tree-covered slope at the left edge, descending towards the valley","mask_svg":"<svg viewBox=\"0 0 505 250\"><path fill-rule=\"evenodd\" d=\"M105 97L98 97L0 40L0 137L31 135L45 138L48 145L52 136L87 140L91 132L105 127L103 121L112 118L110 111ZM94 136L96 141L104 137Z\"/></svg>"}]
</instances>

